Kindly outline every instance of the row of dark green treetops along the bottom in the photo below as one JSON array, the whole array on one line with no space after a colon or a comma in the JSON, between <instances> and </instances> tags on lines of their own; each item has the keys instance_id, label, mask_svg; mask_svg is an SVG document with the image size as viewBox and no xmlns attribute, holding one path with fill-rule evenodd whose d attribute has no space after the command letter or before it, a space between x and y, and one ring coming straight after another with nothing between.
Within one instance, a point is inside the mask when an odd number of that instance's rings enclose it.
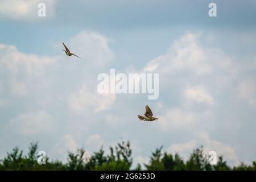
<instances>
[{"instance_id":1,"label":"row of dark green treetops along the bottom","mask_svg":"<svg viewBox=\"0 0 256 182\"><path fill-rule=\"evenodd\" d=\"M38 164L38 143L31 143L28 154L18 147L7 152L7 156L0 160L0 170L141 170L141 164L131 168L133 163L132 150L129 142L117 143L110 147L106 155L102 149L94 152L90 158L85 158L85 150L80 148L77 152L68 152L67 163L59 160L49 160L46 165ZM150 156L150 162L143 164L147 170L256 170L256 161L251 165L240 163L239 166L230 167L220 156L216 165L210 165L208 157L203 154L203 147L192 151L187 161L179 154L168 154L162 147L156 148Z\"/></svg>"}]
</instances>

